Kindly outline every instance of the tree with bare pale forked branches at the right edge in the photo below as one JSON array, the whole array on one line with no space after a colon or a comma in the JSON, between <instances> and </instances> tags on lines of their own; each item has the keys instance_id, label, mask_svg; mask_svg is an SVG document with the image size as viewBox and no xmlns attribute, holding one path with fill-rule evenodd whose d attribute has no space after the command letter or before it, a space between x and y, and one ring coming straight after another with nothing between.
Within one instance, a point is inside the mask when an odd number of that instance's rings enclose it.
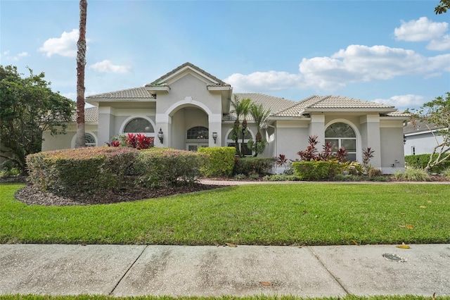
<instances>
[{"instance_id":1,"label":"tree with bare pale forked branches at the right edge","mask_svg":"<svg viewBox=\"0 0 450 300\"><path fill-rule=\"evenodd\" d=\"M446 98L438 96L435 100L423 104L418 111L413 112L413 120L414 118L425 123L436 140L436 145L433 148L432 154L430 155L430 161L428 161L425 170L430 170L431 168L444 163L444 161L449 161L450 92L446 93ZM435 133L431 127L437 127L437 132ZM442 136L442 142L436 138L436 135Z\"/></svg>"}]
</instances>

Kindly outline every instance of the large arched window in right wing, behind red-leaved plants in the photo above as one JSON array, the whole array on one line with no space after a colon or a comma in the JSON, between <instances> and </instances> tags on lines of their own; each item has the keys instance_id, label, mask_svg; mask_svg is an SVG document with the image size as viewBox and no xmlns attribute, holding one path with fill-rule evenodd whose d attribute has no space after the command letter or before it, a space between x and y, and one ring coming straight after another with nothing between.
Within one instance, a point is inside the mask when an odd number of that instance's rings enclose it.
<instances>
[{"instance_id":1,"label":"large arched window in right wing, behind red-leaved plants","mask_svg":"<svg viewBox=\"0 0 450 300\"><path fill-rule=\"evenodd\" d=\"M341 147L347 151L347 160L356 161L356 134L353 128L345 123L333 123L325 130L325 142L330 142L333 152Z\"/></svg>"}]
</instances>

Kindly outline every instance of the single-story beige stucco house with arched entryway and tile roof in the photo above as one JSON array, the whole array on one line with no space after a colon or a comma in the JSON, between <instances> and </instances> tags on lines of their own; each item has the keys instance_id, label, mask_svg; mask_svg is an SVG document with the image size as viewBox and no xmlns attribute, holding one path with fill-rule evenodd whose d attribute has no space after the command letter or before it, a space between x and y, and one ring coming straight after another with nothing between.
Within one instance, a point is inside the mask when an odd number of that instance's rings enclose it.
<instances>
[{"instance_id":1,"label":"single-story beige stucco house with arched entryway and tile roof","mask_svg":"<svg viewBox=\"0 0 450 300\"><path fill-rule=\"evenodd\" d=\"M384 173L404 168L403 122L409 115L393 106L343 96L311 96L297 102L265 94L233 94L231 85L191 63L143 87L87 97L86 103L94 107L85 111L86 137L98 146L127 132L155 137L157 147L195 151L202 146L233 146L234 96L271 110L262 129L268 144L261 156L285 154L295 160L297 152L307 147L308 137L317 135L319 151L325 142L332 142L344 146L349 159L362 161L363 149L371 147L373 167ZM257 133L250 115L247 120L245 143ZM56 137L46 132L42 150L74 147L75 121L67 132ZM245 154L252 155L250 150Z\"/></svg>"}]
</instances>

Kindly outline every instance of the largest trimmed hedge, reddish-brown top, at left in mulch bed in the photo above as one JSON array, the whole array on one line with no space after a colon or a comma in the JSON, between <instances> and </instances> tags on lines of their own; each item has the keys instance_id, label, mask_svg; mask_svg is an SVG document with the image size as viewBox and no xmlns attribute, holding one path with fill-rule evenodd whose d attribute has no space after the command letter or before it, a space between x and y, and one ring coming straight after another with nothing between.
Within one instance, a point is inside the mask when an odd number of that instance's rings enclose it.
<instances>
[{"instance_id":1,"label":"largest trimmed hedge, reddish-brown top, at left in mulch bed","mask_svg":"<svg viewBox=\"0 0 450 300\"><path fill-rule=\"evenodd\" d=\"M27 156L29 180L42 191L101 193L120 188L138 151L87 147Z\"/></svg>"}]
</instances>

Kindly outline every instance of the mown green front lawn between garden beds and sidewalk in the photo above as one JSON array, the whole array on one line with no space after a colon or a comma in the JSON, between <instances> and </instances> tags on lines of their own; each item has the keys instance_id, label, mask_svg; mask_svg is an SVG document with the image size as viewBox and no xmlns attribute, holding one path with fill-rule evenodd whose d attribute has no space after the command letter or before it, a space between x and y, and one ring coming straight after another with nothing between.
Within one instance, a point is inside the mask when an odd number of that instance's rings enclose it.
<instances>
[{"instance_id":1,"label":"mown green front lawn between garden beds and sidewalk","mask_svg":"<svg viewBox=\"0 0 450 300\"><path fill-rule=\"evenodd\" d=\"M0 185L0 243L450 242L450 185L266 184L94 206L27 206Z\"/></svg>"}]
</instances>

